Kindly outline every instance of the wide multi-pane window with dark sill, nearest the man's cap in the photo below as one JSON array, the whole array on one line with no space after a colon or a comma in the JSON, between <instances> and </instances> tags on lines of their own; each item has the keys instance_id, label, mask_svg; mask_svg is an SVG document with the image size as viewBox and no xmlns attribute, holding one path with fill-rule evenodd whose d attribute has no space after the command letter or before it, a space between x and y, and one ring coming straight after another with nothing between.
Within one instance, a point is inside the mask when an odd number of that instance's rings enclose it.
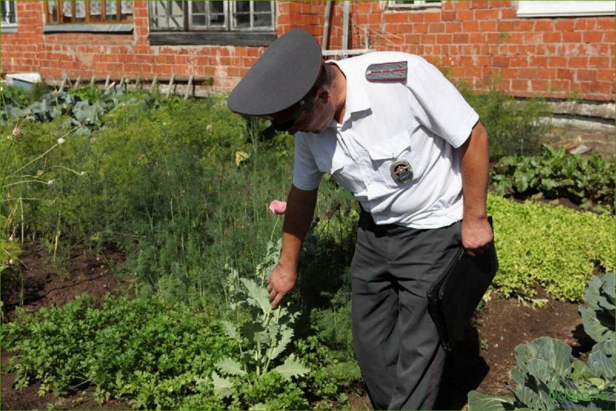
<instances>
[{"instance_id":1,"label":"wide multi-pane window with dark sill, nearest the man's cap","mask_svg":"<svg viewBox=\"0 0 616 411\"><path fill-rule=\"evenodd\" d=\"M267 46L275 1L148 1L150 44Z\"/></svg>"}]
</instances>

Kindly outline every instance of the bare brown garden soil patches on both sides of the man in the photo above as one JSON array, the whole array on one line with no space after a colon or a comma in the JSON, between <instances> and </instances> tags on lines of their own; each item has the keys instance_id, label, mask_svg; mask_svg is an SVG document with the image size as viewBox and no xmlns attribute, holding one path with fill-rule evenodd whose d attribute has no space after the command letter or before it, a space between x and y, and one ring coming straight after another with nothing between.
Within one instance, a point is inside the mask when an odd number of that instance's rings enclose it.
<instances>
[{"instance_id":1,"label":"bare brown garden soil patches on both sides of the man","mask_svg":"<svg viewBox=\"0 0 616 411\"><path fill-rule=\"evenodd\" d=\"M36 310L49 305L62 305L87 291L102 297L107 293L121 294L129 284L118 281L113 267L123 260L119 252L107 252L100 257L74 252L58 269L49 265L49 257L40 247L26 250L23 263L23 304ZM62 274L63 273L63 274ZM2 284L3 322L15 316L20 301L20 288ZM583 331L578 304L556 301L538 289L537 298L545 299L543 307L520 305L517 299L494 296L485 304L466 330L466 339L448 354L437 410L465 410L466 394L480 392L508 395L505 385L511 383L510 370L516 364L514 348L540 336L550 336L567 342L575 357L586 359L593 341ZM98 405L92 387L58 399L52 394L38 396L39 384L20 391L12 389L14 376L5 373L10 354L2 351L2 410L64 409L64 410L129 410L128 404L111 400ZM353 410L370 410L370 400L363 384L349 392ZM50 406L54 408L49 408Z\"/></svg>"}]
</instances>

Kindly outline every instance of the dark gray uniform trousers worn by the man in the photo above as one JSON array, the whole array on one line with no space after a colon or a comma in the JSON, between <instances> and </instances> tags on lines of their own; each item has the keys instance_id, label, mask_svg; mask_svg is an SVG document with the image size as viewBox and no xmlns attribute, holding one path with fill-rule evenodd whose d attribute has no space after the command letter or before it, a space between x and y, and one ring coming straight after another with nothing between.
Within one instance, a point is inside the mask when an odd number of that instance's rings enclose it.
<instances>
[{"instance_id":1,"label":"dark gray uniform trousers worn by the man","mask_svg":"<svg viewBox=\"0 0 616 411\"><path fill-rule=\"evenodd\" d=\"M426 291L460 247L460 222L376 226L362 212L351 265L353 346L375 410L434 407L446 353Z\"/></svg>"}]
</instances>

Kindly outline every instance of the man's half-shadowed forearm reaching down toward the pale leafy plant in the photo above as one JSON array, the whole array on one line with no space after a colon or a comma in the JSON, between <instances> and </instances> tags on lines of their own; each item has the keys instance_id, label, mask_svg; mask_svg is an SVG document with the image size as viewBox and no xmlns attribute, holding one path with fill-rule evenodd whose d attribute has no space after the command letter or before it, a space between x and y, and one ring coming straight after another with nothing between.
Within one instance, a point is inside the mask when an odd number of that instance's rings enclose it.
<instances>
[{"instance_id":1,"label":"man's half-shadowed forearm reaching down toward the pale leafy plant","mask_svg":"<svg viewBox=\"0 0 616 411\"><path fill-rule=\"evenodd\" d=\"M304 191L291 187L286 201L285 223L282 228L282 251L278 264L296 271L302 242L312 223L317 190Z\"/></svg>"}]
</instances>

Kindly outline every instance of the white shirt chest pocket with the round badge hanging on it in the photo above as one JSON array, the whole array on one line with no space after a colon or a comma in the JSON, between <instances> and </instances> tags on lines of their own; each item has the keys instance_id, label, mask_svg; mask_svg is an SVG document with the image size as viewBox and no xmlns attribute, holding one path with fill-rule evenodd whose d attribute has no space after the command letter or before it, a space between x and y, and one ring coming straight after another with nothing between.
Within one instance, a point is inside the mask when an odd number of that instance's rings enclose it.
<instances>
[{"instance_id":1,"label":"white shirt chest pocket with the round badge hanging on it","mask_svg":"<svg viewBox=\"0 0 616 411\"><path fill-rule=\"evenodd\" d=\"M370 157L375 178L389 188L406 188L421 175L420 162L411 144L411 129L379 141L365 150Z\"/></svg>"}]
</instances>

